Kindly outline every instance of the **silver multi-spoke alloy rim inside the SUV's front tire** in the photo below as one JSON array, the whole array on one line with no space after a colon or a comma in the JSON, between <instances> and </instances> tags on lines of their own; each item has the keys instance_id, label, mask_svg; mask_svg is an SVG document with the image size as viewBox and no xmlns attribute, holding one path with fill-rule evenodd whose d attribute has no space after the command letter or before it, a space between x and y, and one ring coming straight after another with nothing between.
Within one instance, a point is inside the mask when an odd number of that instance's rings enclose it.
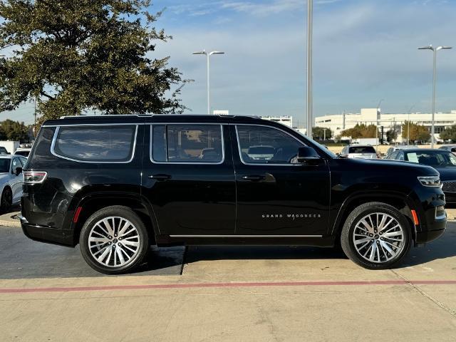
<instances>
[{"instance_id":1,"label":"silver multi-spoke alloy rim inside the SUV's front tire","mask_svg":"<svg viewBox=\"0 0 456 342\"><path fill-rule=\"evenodd\" d=\"M405 246L404 229L390 214L374 212L356 223L353 245L363 259L374 263L390 261Z\"/></svg>"}]
</instances>

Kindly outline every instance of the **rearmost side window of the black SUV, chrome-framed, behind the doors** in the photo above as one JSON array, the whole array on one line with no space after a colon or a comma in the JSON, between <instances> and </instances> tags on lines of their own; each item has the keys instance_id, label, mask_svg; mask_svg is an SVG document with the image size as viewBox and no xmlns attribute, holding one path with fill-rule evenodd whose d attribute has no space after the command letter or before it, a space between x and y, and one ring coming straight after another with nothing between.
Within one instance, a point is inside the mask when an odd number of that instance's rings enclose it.
<instances>
[{"instance_id":1,"label":"rearmost side window of the black SUV, chrome-framed, behind the doors","mask_svg":"<svg viewBox=\"0 0 456 342\"><path fill-rule=\"evenodd\" d=\"M53 153L82 162L129 162L135 135L135 125L60 127Z\"/></svg>"}]
</instances>

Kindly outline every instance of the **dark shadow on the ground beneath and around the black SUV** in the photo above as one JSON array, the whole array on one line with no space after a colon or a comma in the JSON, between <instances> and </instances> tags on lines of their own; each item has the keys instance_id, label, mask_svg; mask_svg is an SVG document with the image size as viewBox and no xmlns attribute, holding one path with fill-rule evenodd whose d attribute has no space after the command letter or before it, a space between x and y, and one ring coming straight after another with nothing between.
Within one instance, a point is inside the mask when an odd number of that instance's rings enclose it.
<instances>
[{"instance_id":1,"label":"dark shadow on the ground beneath and around the black SUV","mask_svg":"<svg viewBox=\"0 0 456 342\"><path fill-rule=\"evenodd\" d=\"M447 232L425 247L412 248L398 268L416 266L437 259L456 256L456 222L450 222ZM180 275L184 264L202 260L249 259L346 259L338 249L318 247L151 247L150 253L135 276ZM20 228L0 227L0 279L74 278L105 276L91 269L81 257L79 247L67 248L33 242Z\"/></svg>"}]
</instances>

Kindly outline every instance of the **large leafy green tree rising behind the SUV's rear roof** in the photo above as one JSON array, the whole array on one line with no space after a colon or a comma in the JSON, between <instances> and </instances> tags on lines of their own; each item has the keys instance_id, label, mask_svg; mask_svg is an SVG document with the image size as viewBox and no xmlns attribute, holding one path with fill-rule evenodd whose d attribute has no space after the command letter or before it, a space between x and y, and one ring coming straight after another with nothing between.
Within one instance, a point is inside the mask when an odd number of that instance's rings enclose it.
<instances>
[{"instance_id":1,"label":"large leafy green tree rising behind the SUV's rear roof","mask_svg":"<svg viewBox=\"0 0 456 342\"><path fill-rule=\"evenodd\" d=\"M170 36L152 24L150 0L5 0L0 2L0 111L37 99L42 118L181 113L181 73L152 59Z\"/></svg>"}]
</instances>

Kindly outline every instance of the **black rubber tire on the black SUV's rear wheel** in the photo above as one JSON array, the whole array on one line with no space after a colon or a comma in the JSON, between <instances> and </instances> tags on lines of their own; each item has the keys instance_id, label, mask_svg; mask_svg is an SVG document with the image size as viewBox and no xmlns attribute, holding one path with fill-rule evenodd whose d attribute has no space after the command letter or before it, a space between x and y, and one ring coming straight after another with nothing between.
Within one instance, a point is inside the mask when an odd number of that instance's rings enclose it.
<instances>
[{"instance_id":1,"label":"black rubber tire on the black SUV's rear wheel","mask_svg":"<svg viewBox=\"0 0 456 342\"><path fill-rule=\"evenodd\" d=\"M101 247L95 247L94 245L90 245L89 237L90 236L91 237L99 236L99 234L98 235L93 234L93 229L97 229L95 226L97 224L100 224L100 222L102 222L103 219L107 219L107 218L110 218L108 220L108 222L111 222L111 223L113 223L111 221L113 218L115 220L118 219L118 221L115 221L115 222L120 222L120 223L118 224L118 226L115 226L115 224L114 224L114 227L120 228L120 226L122 225L122 221L120 221L120 219L124 219L124 220L128 220L131 224L131 226L129 226L129 228L126 230L130 230L130 227L135 228L135 231L134 231L135 237L133 237L133 239L135 239L134 242L137 243L139 247L138 247L138 249L135 250L135 254L132 253L133 255L131 255L131 259L122 266L108 266L106 264L103 264L103 262L98 261L98 259L96 259L93 256L93 254L96 254L97 251L100 252L101 249L103 249L103 250L107 249L108 251L110 251L110 249L113 249L112 252L117 255L113 255L113 257L111 257L111 254L110 254L111 252L108 252L109 256L106 259L106 260L108 260L108 264L110 263L110 260L113 262L113 264L115 264L114 257L117 259L120 259L120 257L118 257L119 254L122 255L123 259L126 259L128 257L128 254L124 252L124 251L128 252L127 247L125 247L125 241L127 239L132 239L131 237L125 237L125 240L120 241L122 239L120 237L120 234L119 234L119 237L117 237L117 235L115 235L115 237L110 235L110 236L107 236L107 238L100 237L100 239L109 240L109 242L106 242L106 243L101 242L101 243L103 243L103 245ZM104 223L103 223L103 227L106 228ZM114 228L113 232L115 232L115 231L116 230ZM109 232L109 230L108 230L108 232ZM120 229L118 229L117 232L119 233ZM90 235L90 234L92 234L92 235ZM97 233L95 232L95 234L97 234ZM112 238L112 239L110 239L110 238ZM137 241L137 239L138 239L138 241ZM132 240L130 240L130 242L132 242ZM92 243L98 244L98 242L92 242ZM79 244L81 245L81 254L82 254L84 260L86 260L87 264L90 267L92 267L93 269L95 269L95 271L98 271L103 274L123 274L123 273L127 273L131 269L134 269L136 266L141 264L142 260L144 260L144 258L147 255L147 251L149 250L149 237L148 237L147 229L145 228L144 223L142 222L140 217L138 217L138 215L135 214L135 212L133 212L132 209L130 209L128 207L123 207L120 205L114 205L111 207L105 207L103 209L98 210L98 212L95 212L87 219L87 221L83 225L83 228L81 229L81 235L79 237ZM118 249L117 251L115 249L116 247ZM104 252L100 252L100 254L99 254L100 257L102 254L104 254ZM118 261L118 262L120 262L120 261Z\"/></svg>"}]
</instances>

